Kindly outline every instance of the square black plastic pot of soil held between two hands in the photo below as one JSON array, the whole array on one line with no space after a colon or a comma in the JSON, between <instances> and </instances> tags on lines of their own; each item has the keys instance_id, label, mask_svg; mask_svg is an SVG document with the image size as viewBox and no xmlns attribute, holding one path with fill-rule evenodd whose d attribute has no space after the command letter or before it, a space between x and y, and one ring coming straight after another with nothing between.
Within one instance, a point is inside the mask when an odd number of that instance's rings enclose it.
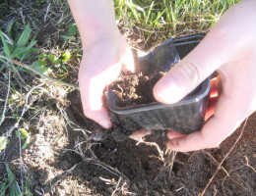
<instances>
[{"instance_id":1,"label":"square black plastic pot of soil held between two hands","mask_svg":"<svg viewBox=\"0 0 256 196\"><path fill-rule=\"evenodd\" d=\"M200 42L200 40L202 40L203 37L204 34L195 34L173 39L174 46L180 59L182 59L191 50L193 50L193 48ZM157 50L168 51L169 49L166 47L169 47L169 45L165 42L160 45ZM141 70L143 72L147 72L147 66L150 68L151 62L154 63L154 61L157 60L166 61L166 59L154 60L155 54L156 53L154 51L139 59L140 65L142 66ZM165 57L169 58L168 55ZM172 58L171 61L173 61L173 56L170 58ZM184 99L175 104L164 105L159 102L153 102L150 104L142 104L138 106L120 107L118 106L119 98L112 91L112 89L109 88L107 104L112 113L115 113L117 116L122 116L133 120L146 129L171 129L183 134L189 134L202 128L209 103L209 92L210 77L204 80Z\"/></svg>"}]
</instances>

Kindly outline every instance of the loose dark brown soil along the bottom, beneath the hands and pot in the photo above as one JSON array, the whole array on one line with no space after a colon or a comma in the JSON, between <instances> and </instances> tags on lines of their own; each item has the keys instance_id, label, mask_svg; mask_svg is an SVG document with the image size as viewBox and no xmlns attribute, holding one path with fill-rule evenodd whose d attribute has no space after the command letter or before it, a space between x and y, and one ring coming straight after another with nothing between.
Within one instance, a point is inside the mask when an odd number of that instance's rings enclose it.
<instances>
[{"instance_id":1,"label":"loose dark brown soil along the bottom, beneath the hands and pot","mask_svg":"<svg viewBox=\"0 0 256 196\"><path fill-rule=\"evenodd\" d=\"M73 113L73 110L70 112ZM51 119L55 117L49 115ZM256 166L255 120L256 114L253 114L246 125L243 138L224 161L223 169L217 173L206 195L256 194L256 175L251 168ZM76 121L80 122L79 119ZM83 120L80 123L87 123L87 127L90 127L92 122ZM67 195L110 195L117 181L120 181L122 189L117 191L117 195L183 196L198 195L202 192L241 129L229 137L220 148L178 153L172 170L171 166L168 167L172 154L163 155L162 160L156 146L149 143L136 145L136 141L132 139L115 141L108 138L94 141L92 138L89 149L85 143L87 138L80 131L70 127L67 134L62 130L56 135L55 131L48 129L45 136L35 135L36 142L26 150L25 163L32 172L34 190L43 189L50 192L50 187L54 184L56 187L51 195L60 195L61 192L70 193ZM47 138L54 141L60 135L65 142L56 143L52 147L42 146L47 143ZM157 142L162 151L165 149L165 140L165 133L162 131L147 136L147 141ZM81 155L65 150L77 149L79 142ZM48 158L43 155L45 150L48 151ZM51 153L52 151L54 153ZM69 170L71 171L68 172Z\"/></svg>"}]
</instances>

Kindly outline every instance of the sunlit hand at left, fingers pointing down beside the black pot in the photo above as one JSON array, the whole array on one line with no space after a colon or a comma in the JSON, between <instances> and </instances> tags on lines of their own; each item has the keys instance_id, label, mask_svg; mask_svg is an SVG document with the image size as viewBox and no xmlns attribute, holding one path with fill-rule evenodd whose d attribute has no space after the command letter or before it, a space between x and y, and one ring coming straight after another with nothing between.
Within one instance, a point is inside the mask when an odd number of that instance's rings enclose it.
<instances>
[{"instance_id":1,"label":"sunlit hand at left, fingers pointing down beside the black pot","mask_svg":"<svg viewBox=\"0 0 256 196\"><path fill-rule=\"evenodd\" d=\"M84 114L104 128L111 122L103 106L103 89L121 69L134 71L133 55L121 35L106 35L85 43L79 70L79 86Z\"/></svg>"}]
</instances>

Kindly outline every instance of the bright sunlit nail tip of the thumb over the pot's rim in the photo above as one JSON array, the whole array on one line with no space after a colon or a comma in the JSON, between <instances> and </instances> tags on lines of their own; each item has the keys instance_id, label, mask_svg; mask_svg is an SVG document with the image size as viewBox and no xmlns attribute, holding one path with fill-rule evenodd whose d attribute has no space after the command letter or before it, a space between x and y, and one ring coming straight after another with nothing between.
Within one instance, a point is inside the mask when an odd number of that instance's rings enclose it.
<instances>
[{"instance_id":1,"label":"bright sunlit nail tip of the thumb over the pot's rim","mask_svg":"<svg viewBox=\"0 0 256 196\"><path fill-rule=\"evenodd\" d=\"M172 79L163 79L157 84L155 98L165 104L172 104L182 98L182 87L178 87Z\"/></svg>"}]
</instances>

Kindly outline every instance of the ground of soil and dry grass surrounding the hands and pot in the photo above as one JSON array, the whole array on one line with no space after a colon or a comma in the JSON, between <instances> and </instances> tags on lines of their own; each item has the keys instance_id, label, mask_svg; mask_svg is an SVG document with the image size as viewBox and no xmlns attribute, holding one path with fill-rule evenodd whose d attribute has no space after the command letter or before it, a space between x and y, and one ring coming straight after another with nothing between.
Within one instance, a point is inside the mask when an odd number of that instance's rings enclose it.
<instances>
[{"instance_id":1,"label":"ground of soil and dry grass surrounding the hands and pot","mask_svg":"<svg viewBox=\"0 0 256 196\"><path fill-rule=\"evenodd\" d=\"M116 10L120 18L122 6ZM0 9L3 32L8 34L8 25L15 21L13 39L31 24L37 53L23 63L46 61L52 70L50 76L77 84L81 43L76 30L75 34L69 32L75 28L67 27L73 21L66 3L3 1ZM124 11L128 12L129 7ZM119 27L133 47L149 51L168 36L164 26L150 26L148 31L154 29L155 33L149 34L141 29L144 25L127 29L129 20L134 19L128 16L120 20ZM180 30L179 25L174 36L199 32L200 26L205 32L209 29L208 25L195 23ZM50 60L49 55L63 58L65 51L72 54L68 62L62 61L59 66ZM42 58L38 54L48 56ZM8 180L7 165L23 195L256 195L256 113L212 150L166 150L165 131L155 131L139 141L116 141L111 137L101 140L94 132L96 123L83 115L79 93L74 88L20 69L25 80L22 83L6 65L0 65L0 104L1 108L6 106L0 134L2 138L8 136L9 143L0 154L0 195L10 195L14 185L13 180ZM24 149L20 128L31 137Z\"/></svg>"}]
</instances>

